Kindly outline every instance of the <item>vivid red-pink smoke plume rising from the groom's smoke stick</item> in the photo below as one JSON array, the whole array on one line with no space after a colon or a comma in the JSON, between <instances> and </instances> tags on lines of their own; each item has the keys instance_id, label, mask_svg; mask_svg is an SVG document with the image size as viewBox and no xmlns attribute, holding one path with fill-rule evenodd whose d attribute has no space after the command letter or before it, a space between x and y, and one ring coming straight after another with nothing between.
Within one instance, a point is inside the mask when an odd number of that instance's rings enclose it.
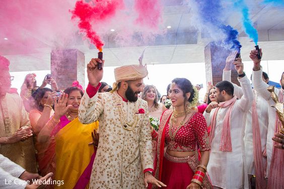
<instances>
[{"instance_id":1,"label":"vivid red-pink smoke plume rising from the groom's smoke stick","mask_svg":"<svg viewBox=\"0 0 284 189\"><path fill-rule=\"evenodd\" d=\"M73 15L72 19L80 19L78 23L80 31L85 33L91 43L96 45L97 49L101 51L104 43L94 28L100 27L100 24L105 24L105 21L115 17L117 10L123 8L123 0L94 0L90 3L80 0L77 1L74 10L70 12Z\"/></svg>"}]
</instances>

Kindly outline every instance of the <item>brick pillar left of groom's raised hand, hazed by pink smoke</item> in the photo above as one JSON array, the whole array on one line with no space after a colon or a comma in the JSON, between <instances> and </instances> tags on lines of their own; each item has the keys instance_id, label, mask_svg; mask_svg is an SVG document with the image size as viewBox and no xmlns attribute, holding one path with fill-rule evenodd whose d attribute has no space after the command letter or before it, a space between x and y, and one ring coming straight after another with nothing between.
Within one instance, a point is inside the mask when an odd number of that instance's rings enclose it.
<instances>
[{"instance_id":1,"label":"brick pillar left of groom's raised hand, hazed by pink smoke","mask_svg":"<svg viewBox=\"0 0 284 189\"><path fill-rule=\"evenodd\" d=\"M60 89L72 86L78 80L85 86L85 55L77 49L51 51L51 75Z\"/></svg>"}]
</instances>

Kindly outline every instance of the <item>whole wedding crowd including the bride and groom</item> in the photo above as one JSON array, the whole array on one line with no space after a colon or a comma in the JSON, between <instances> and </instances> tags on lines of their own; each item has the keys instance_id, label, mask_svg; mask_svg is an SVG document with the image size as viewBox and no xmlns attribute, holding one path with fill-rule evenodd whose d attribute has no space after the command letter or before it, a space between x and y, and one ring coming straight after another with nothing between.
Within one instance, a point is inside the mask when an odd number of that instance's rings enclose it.
<instances>
[{"instance_id":1,"label":"whole wedding crowd including the bride and groom","mask_svg":"<svg viewBox=\"0 0 284 189\"><path fill-rule=\"evenodd\" d=\"M284 135L270 105L283 103L284 72L275 100L257 53L249 55L253 89L234 52L203 103L187 78L173 79L161 96L143 83L141 64L116 68L111 87L97 59L87 66L86 91L78 81L60 90L50 75L37 86L31 73L18 94L0 56L0 187L282 188Z\"/></svg>"}]
</instances>

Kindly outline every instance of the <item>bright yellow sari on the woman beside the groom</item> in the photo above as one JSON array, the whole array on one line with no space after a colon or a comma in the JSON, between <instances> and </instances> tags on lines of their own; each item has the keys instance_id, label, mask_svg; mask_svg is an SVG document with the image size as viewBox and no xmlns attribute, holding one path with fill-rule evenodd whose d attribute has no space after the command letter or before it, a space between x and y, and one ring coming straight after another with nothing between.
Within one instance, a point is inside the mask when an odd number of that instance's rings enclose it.
<instances>
[{"instance_id":1,"label":"bright yellow sari on the woman beside the groom","mask_svg":"<svg viewBox=\"0 0 284 189\"><path fill-rule=\"evenodd\" d=\"M57 184L55 184L55 188L78 187L82 179L85 183L89 182L88 178L83 176L83 173L85 174L88 171L86 168L90 166L91 159L94 160L94 147L88 144L93 141L91 133L98 128L98 121L84 125L76 118L56 134L55 180ZM78 183L78 180L80 180L80 183ZM59 182L60 184L58 184ZM83 187L88 188L89 184Z\"/></svg>"}]
</instances>

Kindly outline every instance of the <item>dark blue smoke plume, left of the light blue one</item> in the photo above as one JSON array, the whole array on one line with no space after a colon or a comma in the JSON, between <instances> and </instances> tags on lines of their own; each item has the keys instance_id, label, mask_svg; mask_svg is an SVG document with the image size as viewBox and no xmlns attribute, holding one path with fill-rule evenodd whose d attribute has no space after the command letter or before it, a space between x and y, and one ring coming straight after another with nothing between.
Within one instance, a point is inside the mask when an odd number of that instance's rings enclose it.
<instances>
[{"instance_id":1,"label":"dark blue smoke plume, left of the light blue one","mask_svg":"<svg viewBox=\"0 0 284 189\"><path fill-rule=\"evenodd\" d=\"M209 32L212 38L215 38L216 33L221 34L221 40L216 41L217 44L224 46L227 49L237 50L240 52L242 45L238 41L238 31L234 30L231 26L226 26L222 18L223 7L220 0L194 0L196 6L195 9L198 9L198 19L202 23L202 27ZM221 43L221 44L220 44Z\"/></svg>"}]
</instances>

